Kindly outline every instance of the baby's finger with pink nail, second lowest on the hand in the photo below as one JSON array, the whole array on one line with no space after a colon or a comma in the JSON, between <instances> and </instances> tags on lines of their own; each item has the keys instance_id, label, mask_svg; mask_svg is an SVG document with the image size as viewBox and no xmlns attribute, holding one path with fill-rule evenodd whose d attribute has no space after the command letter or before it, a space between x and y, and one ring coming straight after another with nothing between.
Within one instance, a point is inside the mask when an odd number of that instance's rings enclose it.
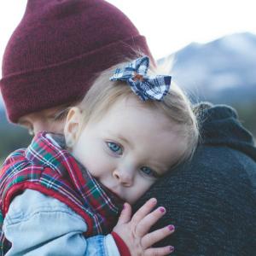
<instances>
[{"instance_id":1,"label":"baby's finger with pink nail, second lowest on the hand","mask_svg":"<svg viewBox=\"0 0 256 256\"><path fill-rule=\"evenodd\" d=\"M143 236L143 248L152 247L157 241L164 239L166 236L170 236L174 230L175 228L173 225L168 225L165 228L148 233L146 236Z\"/></svg>"}]
</instances>

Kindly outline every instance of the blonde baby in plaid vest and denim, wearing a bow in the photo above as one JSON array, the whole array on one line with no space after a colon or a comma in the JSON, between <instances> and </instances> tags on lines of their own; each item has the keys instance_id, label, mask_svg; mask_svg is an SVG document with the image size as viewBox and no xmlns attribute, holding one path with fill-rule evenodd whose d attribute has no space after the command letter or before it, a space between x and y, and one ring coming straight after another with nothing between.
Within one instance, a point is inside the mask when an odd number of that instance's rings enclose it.
<instances>
[{"instance_id":1,"label":"blonde baby in plaid vest and denim, wearing a bow","mask_svg":"<svg viewBox=\"0 0 256 256\"><path fill-rule=\"evenodd\" d=\"M149 232L165 208L153 211L151 199L131 217L131 204L191 157L198 129L182 91L170 88L170 76L148 76L148 65L144 56L101 73L69 109L64 137L40 132L5 161L7 255L172 253L173 247L152 245L173 225Z\"/></svg>"}]
</instances>

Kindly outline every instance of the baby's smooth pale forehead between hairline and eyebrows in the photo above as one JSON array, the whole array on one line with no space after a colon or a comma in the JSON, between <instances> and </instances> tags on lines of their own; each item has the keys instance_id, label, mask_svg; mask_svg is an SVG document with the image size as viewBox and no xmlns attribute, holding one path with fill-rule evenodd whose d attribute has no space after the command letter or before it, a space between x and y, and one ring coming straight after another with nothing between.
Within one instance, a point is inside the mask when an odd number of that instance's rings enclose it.
<instances>
[{"instance_id":1,"label":"baby's smooth pale forehead between hairline and eyebrows","mask_svg":"<svg viewBox=\"0 0 256 256\"><path fill-rule=\"evenodd\" d=\"M176 134L179 125L158 108L149 107L147 102L129 97L115 102L108 112L103 114L103 125L110 126L116 133L128 133L148 139L160 134Z\"/></svg>"}]
</instances>

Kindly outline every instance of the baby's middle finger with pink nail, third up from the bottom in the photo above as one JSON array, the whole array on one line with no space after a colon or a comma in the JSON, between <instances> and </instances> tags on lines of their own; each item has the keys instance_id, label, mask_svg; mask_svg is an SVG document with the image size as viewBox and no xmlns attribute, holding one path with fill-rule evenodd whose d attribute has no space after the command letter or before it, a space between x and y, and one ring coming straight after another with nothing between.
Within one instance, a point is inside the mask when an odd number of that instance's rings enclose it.
<instances>
[{"instance_id":1,"label":"baby's middle finger with pink nail, third up from the bottom","mask_svg":"<svg viewBox=\"0 0 256 256\"><path fill-rule=\"evenodd\" d=\"M137 223L136 233L138 236L145 236L148 230L166 213L165 207L158 207L153 212L148 213Z\"/></svg>"}]
</instances>

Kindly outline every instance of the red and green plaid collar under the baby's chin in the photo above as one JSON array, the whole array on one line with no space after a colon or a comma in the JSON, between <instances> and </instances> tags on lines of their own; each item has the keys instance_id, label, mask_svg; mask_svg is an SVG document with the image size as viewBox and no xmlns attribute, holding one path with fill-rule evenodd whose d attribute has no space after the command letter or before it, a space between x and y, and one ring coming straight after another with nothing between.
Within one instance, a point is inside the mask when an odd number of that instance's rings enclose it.
<instances>
[{"instance_id":1,"label":"red and green plaid collar under the baby's chin","mask_svg":"<svg viewBox=\"0 0 256 256\"><path fill-rule=\"evenodd\" d=\"M124 201L107 188L103 188L102 184L98 183L90 172L87 172L84 166L74 159L73 155L65 149L65 140L62 135L39 132L26 148L25 154L33 164L50 167L61 177L68 176L81 201L90 208L93 215L98 216L96 217L99 222L97 225L101 226L102 233L113 227Z\"/></svg>"}]
</instances>

